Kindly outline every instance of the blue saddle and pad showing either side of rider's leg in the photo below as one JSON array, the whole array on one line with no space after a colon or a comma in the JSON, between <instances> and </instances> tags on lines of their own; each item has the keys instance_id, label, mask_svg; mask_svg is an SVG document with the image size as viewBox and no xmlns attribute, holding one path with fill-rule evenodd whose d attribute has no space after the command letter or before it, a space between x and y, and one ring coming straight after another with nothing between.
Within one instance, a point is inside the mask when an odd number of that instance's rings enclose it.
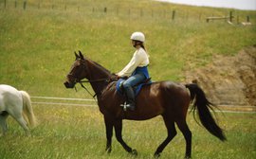
<instances>
[{"instance_id":1,"label":"blue saddle and pad showing either side of rider's leg","mask_svg":"<svg viewBox=\"0 0 256 159\"><path fill-rule=\"evenodd\" d=\"M117 89L119 95L124 95L123 82L124 82L125 80L126 80L126 79L119 79L119 80L117 81L116 89ZM137 94L138 94L139 91L141 90L142 86L148 85L148 84L151 84L151 83L152 83L151 78L145 79L144 81L142 81L142 82L140 82L140 83L137 83L137 85L135 85L135 86L133 87L134 92L135 92L135 95L137 96Z\"/></svg>"}]
</instances>

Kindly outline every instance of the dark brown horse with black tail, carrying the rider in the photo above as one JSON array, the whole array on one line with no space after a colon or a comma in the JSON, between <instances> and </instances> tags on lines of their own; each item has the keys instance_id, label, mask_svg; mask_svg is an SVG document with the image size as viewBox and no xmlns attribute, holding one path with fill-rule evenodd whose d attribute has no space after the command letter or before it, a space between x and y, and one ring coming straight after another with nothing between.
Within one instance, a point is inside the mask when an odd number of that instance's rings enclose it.
<instances>
[{"instance_id":1,"label":"dark brown horse with black tail, carrying the rider","mask_svg":"<svg viewBox=\"0 0 256 159\"><path fill-rule=\"evenodd\" d=\"M124 150L137 154L137 150L131 149L122 139L122 120L146 120L157 115L162 115L168 131L167 138L155 150L155 157L169 144L176 135L174 124L183 133L186 140L186 158L192 155L192 132L186 123L186 115L190 103L193 101L193 110L197 109L203 126L220 140L226 137L220 127L210 115L210 101L204 92L196 84L181 85L172 81L159 81L145 85L137 95L136 111L123 111L120 105L124 103L116 90L115 75L103 68L100 64L85 59L79 51L75 53L76 61L66 77L66 88L74 88L76 83L82 84L82 79L88 79L98 99L100 111L104 116L106 129L106 151L111 152L113 128L116 137Z\"/></svg>"}]
</instances>

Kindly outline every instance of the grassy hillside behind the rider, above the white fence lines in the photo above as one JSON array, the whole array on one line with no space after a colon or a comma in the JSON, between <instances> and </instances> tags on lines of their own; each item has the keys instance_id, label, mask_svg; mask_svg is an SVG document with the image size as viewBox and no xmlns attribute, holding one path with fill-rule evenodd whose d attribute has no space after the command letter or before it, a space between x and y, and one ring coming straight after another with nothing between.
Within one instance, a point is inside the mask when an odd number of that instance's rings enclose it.
<instances>
[{"instance_id":1,"label":"grassy hillside behind the rider, above the white fence lines","mask_svg":"<svg viewBox=\"0 0 256 159\"><path fill-rule=\"evenodd\" d=\"M255 11L232 11L240 22L249 15L256 23ZM206 23L208 16L228 14L149 0L30 0L26 9L23 2L0 1L0 83L31 96L87 97L63 85L73 52L118 72L134 52L129 37L137 30L147 38L152 78L182 81L185 69L205 65L213 54L232 56L255 44L255 26Z\"/></svg>"}]
</instances>

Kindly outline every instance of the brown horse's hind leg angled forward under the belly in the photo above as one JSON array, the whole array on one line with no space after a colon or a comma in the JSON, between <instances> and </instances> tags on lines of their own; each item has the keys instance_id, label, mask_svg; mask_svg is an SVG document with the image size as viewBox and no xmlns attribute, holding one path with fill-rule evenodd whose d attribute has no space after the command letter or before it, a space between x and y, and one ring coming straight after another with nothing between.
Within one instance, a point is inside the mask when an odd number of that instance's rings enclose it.
<instances>
[{"instance_id":1,"label":"brown horse's hind leg angled forward under the belly","mask_svg":"<svg viewBox=\"0 0 256 159\"><path fill-rule=\"evenodd\" d=\"M167 138L158 146L155 150L155 157L159 157L160 153L165 149L165 147L172 141L176 135L176 129L174 125L174 120L170 118L170 115L163 115L164 123L167 128L168 136Z\"/></svg>"}]
</instances>

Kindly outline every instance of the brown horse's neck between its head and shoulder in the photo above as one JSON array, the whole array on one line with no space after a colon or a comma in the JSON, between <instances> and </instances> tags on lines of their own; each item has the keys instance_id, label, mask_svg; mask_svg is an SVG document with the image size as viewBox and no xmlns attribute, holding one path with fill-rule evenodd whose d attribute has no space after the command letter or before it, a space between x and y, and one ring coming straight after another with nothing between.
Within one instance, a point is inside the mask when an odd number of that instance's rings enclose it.
<instances>
[{"instance_id":1,"label":"brown horse's neck between its head and shoulder","mask_svg":"<svg viewBox=\"0 0 256 159\"><path fill-rule=\"evenodd\" d=\"M90 70L89 80L94 92L100 94L101 91L108 85L107 79L110 79L111 73L96 62L89 61L91 64L88 66ZM104 80L105 79L105 80ZM101 81L96 81L101 80Z\"/></svg>"}]
</instances>

